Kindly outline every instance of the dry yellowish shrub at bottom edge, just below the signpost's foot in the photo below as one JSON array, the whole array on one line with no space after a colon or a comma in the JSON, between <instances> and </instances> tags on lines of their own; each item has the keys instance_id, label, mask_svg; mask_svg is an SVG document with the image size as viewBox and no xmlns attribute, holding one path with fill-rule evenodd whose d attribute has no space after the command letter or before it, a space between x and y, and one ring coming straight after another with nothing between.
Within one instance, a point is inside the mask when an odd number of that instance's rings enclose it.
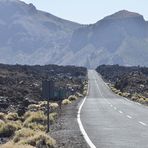
<instances>
[{"instance_id":1,"label":"dry yellowish shrub at bottom edge, just below the signpost's foot","mask_svg":"<svg viewBox=\"0 0 148 148\"><path fill-rule=\"evenodd\" d=\"M49 147L54 148L56 141L44 132L38 132L34 136L21 140L19 144L28 144L34 147Z\"/></svg>"}]
</instances>

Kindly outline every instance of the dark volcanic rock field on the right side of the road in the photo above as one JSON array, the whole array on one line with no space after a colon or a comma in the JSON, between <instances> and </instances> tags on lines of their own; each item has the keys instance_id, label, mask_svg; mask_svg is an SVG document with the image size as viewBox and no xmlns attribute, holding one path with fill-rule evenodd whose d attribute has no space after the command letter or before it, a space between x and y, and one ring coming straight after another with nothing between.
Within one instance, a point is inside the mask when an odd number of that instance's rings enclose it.
<instances>
[{"instance_id":1,"label":"dark volcanic rock field on the right side of the road","mask_svg":"<svg viewBox=\"0 0 148 148\"><path fill-rule=\"evenodd\" d=\"M112 83L121 92L137 93L148 97L147 67L101 65L96 70L107 82Z\"/></svg>"}]
</instances>

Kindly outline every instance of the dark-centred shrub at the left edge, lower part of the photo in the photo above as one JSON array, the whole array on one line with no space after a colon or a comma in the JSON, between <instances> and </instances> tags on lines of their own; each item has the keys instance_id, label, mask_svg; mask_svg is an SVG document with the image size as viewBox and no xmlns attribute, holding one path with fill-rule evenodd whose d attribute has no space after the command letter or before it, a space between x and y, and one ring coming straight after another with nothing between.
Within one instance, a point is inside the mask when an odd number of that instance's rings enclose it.
<instances>
[{"instance_id":1,"label":"dark-centred shrub at the left edge, lower part of the photo","mask_svg":"<svg viewBox=\"0 0 148 148\"><path fill-rule=\"evenodd\" d=\"M20 128L21 124L19 122L5 123L0 127L0 137L10 137L16 130L19 130Z\"/></svg>"}]
</instances>

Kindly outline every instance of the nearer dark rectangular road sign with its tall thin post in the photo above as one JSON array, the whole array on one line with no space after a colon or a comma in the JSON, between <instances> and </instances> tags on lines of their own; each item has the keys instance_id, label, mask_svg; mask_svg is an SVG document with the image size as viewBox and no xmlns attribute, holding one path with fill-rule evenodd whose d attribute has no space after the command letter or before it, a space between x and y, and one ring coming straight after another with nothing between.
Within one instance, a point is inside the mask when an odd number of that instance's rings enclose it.
<instances>
[{"instance_id":1,"label":"nearer dark rectangular road sign with its tall thin post","mask_svg":"<svg viewBox=\"0 0 148 148\"><path fill-rule=\"evenodd\" d=\"M42 97L47 100L47 133L49 132L50 120L49 120L49 101L54 98L54 82L42 81Z\"/></svg>"}]
</instances>

